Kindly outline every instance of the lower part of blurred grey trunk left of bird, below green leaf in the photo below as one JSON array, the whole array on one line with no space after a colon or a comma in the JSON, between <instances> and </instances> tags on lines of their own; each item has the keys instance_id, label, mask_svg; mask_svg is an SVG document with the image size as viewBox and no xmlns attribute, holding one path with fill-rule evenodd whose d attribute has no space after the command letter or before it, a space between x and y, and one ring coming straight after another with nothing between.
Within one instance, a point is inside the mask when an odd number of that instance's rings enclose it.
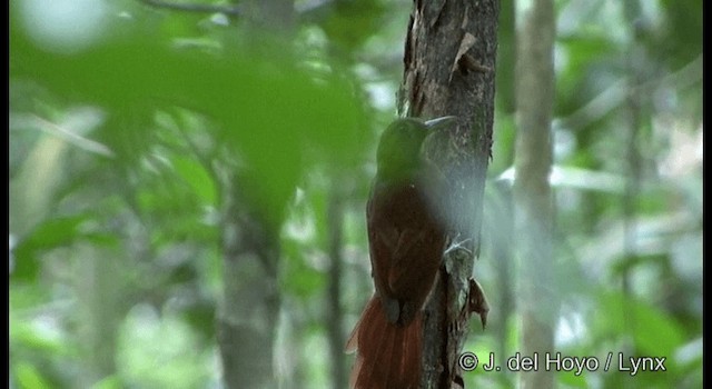
<instances>
[{"instance_id":1,"label":"lower part of blurred grey trunk left of bird, below green leaf","mask_svg":"<svg viewBox=\"0 0 712 389\"><path fill-rule=\"evenodd\" d=\"M274 339L279 316L278 227L250 211L230 173L221 181L224 296L218 312L227 388L275 388Z\"/></svg>"}]
</instances>

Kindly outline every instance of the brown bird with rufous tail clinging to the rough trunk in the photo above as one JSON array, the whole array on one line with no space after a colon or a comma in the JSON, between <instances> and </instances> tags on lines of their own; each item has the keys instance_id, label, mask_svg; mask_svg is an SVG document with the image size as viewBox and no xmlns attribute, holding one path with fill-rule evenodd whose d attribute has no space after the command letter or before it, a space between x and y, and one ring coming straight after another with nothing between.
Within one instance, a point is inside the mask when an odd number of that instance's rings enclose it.
<instances>
[{"instance_id":1,"label":"brown bird with rufous tail clinging to the rough trunk","mask_svg":"<svg viewBox=\"0 0 712 389\"><path fill-rule=\"evenodd\" d=\"M446 245L447 181L424 156L427 136L455 117L400 118L380 136L366 206L375 292L348 339L355 389L418 388L423 315Z\"/></svg>"}]
</instances>

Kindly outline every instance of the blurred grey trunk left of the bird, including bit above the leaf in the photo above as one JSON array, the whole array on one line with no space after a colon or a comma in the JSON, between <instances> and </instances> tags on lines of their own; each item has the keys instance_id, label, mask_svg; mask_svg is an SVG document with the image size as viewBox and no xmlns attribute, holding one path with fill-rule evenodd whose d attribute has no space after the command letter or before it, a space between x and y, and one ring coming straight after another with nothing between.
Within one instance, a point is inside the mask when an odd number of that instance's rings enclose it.
<instances>
[{"instance_id":1,"label":"blurred grey trunk left of the bird, including bit above the leaf","mask_svg":"<svg viewBox=\"0 0 712 389\"><path fill-rule=\"evenodd\" d=\"M253 34L254 42L261 42L266 32L288 36L294 27L291 0L233 2L240 6L240 19L247 27L243 32ZM280 226L257 212L240 191L261 180L241 171L230 157L224 162L227 171L219 179L224 296L218 312L222 380L227 388L277 388L274 350L280 309Z\"/></svg>"}]
</instances>

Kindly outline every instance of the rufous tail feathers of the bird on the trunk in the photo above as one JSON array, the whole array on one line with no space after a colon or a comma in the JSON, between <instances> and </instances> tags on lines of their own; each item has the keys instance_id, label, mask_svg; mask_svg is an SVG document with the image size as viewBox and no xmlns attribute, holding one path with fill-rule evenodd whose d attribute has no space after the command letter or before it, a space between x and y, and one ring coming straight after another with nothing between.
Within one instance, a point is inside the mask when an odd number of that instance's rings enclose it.
<instances>
[{"instance_id":1,"label":"rufous tail feathers of the bird on the trunk","mask_svg":"<svg viewBox=\"0 0 712 389\"><path fill-rule=\"evenodd\" d=\"M421 313L406 326L388 322L380 299L366 305L346 351L356 350L349 387L354 389L416 389L421 380Z\"/></svg>"}]
</instances>

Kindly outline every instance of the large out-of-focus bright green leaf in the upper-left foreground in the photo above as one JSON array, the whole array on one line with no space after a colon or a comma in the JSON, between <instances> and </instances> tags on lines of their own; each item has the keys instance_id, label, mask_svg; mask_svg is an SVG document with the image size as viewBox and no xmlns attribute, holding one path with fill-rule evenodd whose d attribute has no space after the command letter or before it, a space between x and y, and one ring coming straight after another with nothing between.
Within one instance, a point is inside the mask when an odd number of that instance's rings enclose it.
<instances>
[{"instance_id":1,"label":"large out-of-focus bright green leaf in the upper-left foreground","mask_svg":"<svg viewBox=\"0 0 712 389\"><path fill-rule=\"evenodd\" d=\"M364 144L360 103L348 82L305 69L285 47L268 54L245 49L228 58L178 50L135 32L61 54L34 46L18 27L11 30L11 76L108 109L115 141L123 142L105 141L119 156L121 150L147 151L151 108L178 106L211 118L216 139L246 162L240 191L270 223L281 222L307 157L348 167ZM184 173L197 172L190 162L178 163L192 170ZM214 199L201 173L190 179L201 188L199 196Z\"/></svg>"}]
</instances>

